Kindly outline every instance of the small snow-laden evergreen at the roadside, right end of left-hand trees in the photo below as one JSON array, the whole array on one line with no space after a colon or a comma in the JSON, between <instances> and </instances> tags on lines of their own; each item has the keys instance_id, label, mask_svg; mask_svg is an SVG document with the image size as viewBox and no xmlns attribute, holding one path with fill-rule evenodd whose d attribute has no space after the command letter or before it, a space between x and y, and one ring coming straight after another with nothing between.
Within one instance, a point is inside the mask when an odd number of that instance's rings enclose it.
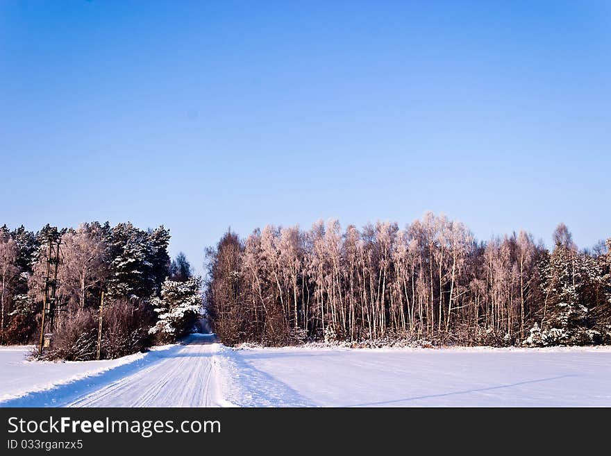
<instances>
[{"instance_id":1,"label":"small snow-laden evergreen at the roadside, right end of left-hand trees","mask_svg":"<svg viewBox=\"0 0 611 456\"><path fill-rule=\"evenodd\" d=\"M199 277L185 282L165 280L161 296L151 299L158 321L149 333L161 341L176 341L191 332L195 320L203 313L200 287Z\"/></svg>"}]
</instances>

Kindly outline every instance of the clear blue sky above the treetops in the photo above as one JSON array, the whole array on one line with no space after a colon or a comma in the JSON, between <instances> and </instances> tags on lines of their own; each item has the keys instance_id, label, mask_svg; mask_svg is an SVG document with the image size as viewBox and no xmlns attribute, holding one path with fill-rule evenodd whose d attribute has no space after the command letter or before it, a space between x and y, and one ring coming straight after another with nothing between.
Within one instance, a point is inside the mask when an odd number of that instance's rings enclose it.
<instances>
[{"instance_id":1,"label":"clear blue sky above the treetops","mask_svg":"<svg viewBox=\"0 0 611 456\"><path fill-rule=\"evenodd\" d=\"M611 236L608 1L1 1L0 223Z\"/></svg>"}]
</instances>

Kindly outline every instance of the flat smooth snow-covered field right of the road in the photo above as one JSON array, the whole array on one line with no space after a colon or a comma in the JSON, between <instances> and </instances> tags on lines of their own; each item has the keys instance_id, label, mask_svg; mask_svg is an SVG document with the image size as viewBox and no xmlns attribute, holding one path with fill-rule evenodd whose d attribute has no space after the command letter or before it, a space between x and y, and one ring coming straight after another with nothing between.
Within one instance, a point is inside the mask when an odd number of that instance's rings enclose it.
<instances>
[{"instance_id":1,"label":"flat smooth snow-covered field right of the road","mask_svg":"<svg viewBox=\"0 0 611 456\"><path fill-rule=\"evenodd\" d=\"M242 385L257 391L237 393L240 405L611 405L609 348L265 348L236 351L235 359Z\"/></svg>"}]
</instances>

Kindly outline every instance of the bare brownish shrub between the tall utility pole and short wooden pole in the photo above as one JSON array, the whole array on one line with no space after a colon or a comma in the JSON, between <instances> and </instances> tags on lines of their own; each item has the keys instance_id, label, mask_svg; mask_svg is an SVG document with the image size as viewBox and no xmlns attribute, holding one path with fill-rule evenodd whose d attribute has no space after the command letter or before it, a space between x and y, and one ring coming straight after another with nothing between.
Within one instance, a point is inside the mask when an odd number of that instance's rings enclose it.
<instances>
[{"instance_id":1,"label":"bare brownish shrub between the tall utility pole and short wooden pole","mask_svg":"<svg viewBox=\"0 0 611 456\"><path fill-rule=\"evenodd\" d=\"M62 318L53 331L53 344L45 360L88 361L97 354L98 319L92 310Z\"/></svg>"}]
</instances>

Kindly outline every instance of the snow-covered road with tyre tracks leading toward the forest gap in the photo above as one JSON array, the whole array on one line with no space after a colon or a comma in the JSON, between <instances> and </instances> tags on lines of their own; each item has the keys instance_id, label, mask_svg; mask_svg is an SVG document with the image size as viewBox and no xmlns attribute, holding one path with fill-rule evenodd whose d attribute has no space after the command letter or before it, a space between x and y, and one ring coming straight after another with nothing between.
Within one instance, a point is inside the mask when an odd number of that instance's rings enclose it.
<instances>
[{"instance_id":1,"label":"snow-covered road with tyre tracks leading toward the forest gap","mask_svg":"<svg viewBox=\"0 0 611 456\"><path fill-rule=\"evenodd\" d=\"M0 402L9 407L223 407L214 336L192 335L185 345L151 351L129 364ZM85 363L26 363L71 366Z\"/></svg>"}]
</instances>

